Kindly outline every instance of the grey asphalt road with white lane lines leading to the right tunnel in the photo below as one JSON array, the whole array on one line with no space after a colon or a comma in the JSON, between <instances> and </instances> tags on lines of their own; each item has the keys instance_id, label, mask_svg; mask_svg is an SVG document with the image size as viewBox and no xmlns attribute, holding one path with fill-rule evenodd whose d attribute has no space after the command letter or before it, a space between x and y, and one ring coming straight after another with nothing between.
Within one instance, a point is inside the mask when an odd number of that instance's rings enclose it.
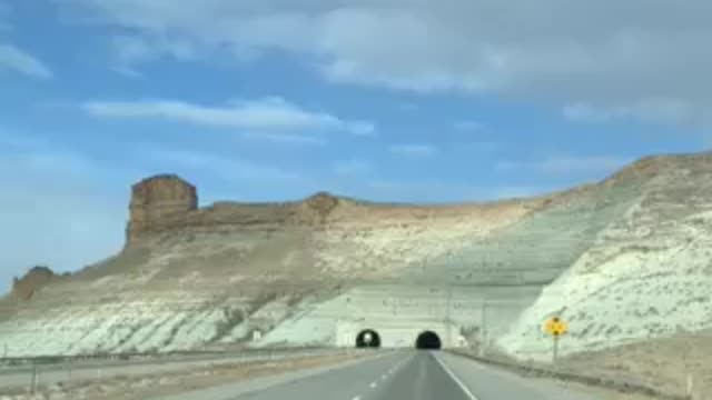
<instances>
[{"instance_id":1,"label":"grey asphalt road with white lane lines leading to the right tunnel","mask_svg":"<svg viewBox=\"0 0 712 400\"><path fill-rule=\"evenodd\" d=\"M397 351L286 378L161 400L603 400L439 351Z\"/></svg>"}]
</instances>

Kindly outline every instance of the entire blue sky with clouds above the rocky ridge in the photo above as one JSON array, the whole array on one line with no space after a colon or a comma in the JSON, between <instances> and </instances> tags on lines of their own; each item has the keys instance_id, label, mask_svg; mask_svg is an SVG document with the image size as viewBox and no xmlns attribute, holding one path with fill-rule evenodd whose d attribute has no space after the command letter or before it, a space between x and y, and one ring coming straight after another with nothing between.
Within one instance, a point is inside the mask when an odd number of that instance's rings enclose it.
<instances>
[{"instance_id":1,"label":"entire blue sky with clouds above the rocky ridge","mask_svg":"<svg viewBox=\"0 0 712 400\"><path fill-rule=\"evenodd\" d=\"M706 150L705 0L0 0L0 291L119 251L129 187L458 202ZM708 50L704 50L708 49Z\"/></svg>"}]
</instances>

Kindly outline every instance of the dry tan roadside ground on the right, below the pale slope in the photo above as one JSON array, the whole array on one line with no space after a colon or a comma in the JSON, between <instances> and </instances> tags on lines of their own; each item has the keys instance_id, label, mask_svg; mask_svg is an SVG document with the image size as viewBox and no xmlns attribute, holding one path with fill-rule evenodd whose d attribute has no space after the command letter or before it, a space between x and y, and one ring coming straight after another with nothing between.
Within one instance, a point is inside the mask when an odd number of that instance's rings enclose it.
<instances>
[{"instance_id":1,"label":"dry tan roadside ground on the right, below the pale slope","mask_svg":"<svg viewBox=\"0 0 712 400\"><path fill-rule=\"evenodd\" d=\"M462 352L479 359L475 351ZM498 353L481 360L527 377L558 379L606 400L712 400L710 331L581 352L560 359L555 368Z\"/></svg>"}]
</instances>

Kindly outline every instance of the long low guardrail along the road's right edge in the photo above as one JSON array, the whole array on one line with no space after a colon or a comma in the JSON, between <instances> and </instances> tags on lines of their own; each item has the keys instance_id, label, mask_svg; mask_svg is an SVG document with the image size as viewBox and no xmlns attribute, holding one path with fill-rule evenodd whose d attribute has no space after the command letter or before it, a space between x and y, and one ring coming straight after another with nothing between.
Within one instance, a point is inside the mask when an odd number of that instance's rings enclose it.
<instances>
[{"instance_id":1,"label":"long low guardrail along the road's right edge","mask_svg":"<svg viewBox=\"0 0 712 400\"><path fill-rule=\"evenodd\" d=\"M669 393L669 392L664 392L662 390L652 388L650 386L635 383L635 382L627 382L621 379L599 377L599 376L587 376L578 372L566 371L565 369L560 369L560 368L544 367L541 364L534 366L534 364L527 364L527 363L518 363L510 360L481 357L467 350L446 350L446 351L455 356L466 357L468 359L472 359L482 363L513 370L515 372L523 372L527 376L534 376L537 378L560 379L564 381L577 382L577 383L600 387L604 389L613 389L624 393L644 394L644 396L654 397L654 398L664 399L664 400L696 400L698 399L696 397L694 397L694 394Z\"/></svg>"}]
</instances>

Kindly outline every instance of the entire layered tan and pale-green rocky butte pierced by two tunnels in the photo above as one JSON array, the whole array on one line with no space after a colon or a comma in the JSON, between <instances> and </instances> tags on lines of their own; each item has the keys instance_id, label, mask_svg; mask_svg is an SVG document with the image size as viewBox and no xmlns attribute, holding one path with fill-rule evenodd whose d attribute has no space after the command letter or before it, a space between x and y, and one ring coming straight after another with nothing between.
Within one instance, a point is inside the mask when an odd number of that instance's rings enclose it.
<instances>
[{"instance_id":1,"label":"entire layered tan and pale-green rocky butte pierced by two tunnels","mask_svg":"<svg viewBox=\"0 0 712 400\"><path fill-rule=\"evenodd\" d=\"M712 326L712 156L642 159L546 196L386 204L316 193L198 207L177 176L131 188L126 246L36 268L0 301L10 356L229 346L446 346L546 359Z\"/></svg>"}]
</instances>

